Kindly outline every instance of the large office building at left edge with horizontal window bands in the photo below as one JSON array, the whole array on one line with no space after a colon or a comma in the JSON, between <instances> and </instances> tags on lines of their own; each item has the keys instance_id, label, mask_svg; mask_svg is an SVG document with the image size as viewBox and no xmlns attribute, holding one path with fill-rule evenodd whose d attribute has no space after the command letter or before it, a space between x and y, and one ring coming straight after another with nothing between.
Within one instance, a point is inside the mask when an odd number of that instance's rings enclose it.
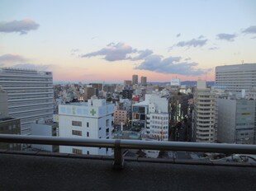
<instances>
[{"instance_id":1,"label":"large office building at left edge with horizontal window bands","mask_svg":"<svg viewBox=\"0 0 256 191\"><path fill-rule=\"evenodd\" d=\"M21 119L21 134L31 134L36 120L53 119L52 72L0 68L0 86L8 95L9 115Z\"/></svg>"}]
</instances>

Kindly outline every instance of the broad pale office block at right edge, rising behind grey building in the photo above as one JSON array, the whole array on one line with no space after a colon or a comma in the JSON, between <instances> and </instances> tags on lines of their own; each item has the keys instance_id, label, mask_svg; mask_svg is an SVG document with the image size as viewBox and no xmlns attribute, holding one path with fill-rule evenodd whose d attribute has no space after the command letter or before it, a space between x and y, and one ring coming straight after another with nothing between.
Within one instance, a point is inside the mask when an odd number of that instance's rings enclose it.
<instances>
[{"instance_id":1,"label":"broad pale office block at right edge, rising behind grey building","mask_svg":"<svg viewBox=\"0 0 256 191\"><path fill-rule=\"evenodd\" d=\"M216 87L234 93L256 89L256 63L216 67Z\"/></svg>"}]
</instances>

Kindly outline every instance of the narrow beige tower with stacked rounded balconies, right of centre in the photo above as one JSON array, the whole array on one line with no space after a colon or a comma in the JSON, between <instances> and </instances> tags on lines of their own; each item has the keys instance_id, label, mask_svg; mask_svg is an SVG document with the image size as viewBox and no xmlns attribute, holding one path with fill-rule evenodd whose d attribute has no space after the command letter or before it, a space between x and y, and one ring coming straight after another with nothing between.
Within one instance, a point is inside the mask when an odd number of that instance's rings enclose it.
<instances>
[{"instance_id":1,"label":"narrow beige tower with stacked rounded balconies, right of centre","mask_svg":"<svg viewBox=\"0 0 256 191\"><path fill-rule=\"evenodd\" d=\"M215 110L215 94L210 88L206 88L205 81L198 81L192 119L193 133L197 142L215 142Z\"/></svg>"}]
</instances>

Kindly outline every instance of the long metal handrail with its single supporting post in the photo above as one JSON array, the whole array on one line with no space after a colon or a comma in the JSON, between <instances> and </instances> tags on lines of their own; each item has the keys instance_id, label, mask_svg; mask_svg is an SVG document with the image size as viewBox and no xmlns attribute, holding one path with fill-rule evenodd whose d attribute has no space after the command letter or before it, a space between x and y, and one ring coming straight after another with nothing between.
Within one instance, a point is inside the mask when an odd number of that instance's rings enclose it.
<instances>
[{"instance_id":1,"label":"long metal handrail with its single supporting post","mask_svg":"<svg viewBox=\"0 0 256 191\"><path fill-rule=\"evenodd\" d=\"M145 149L162 151L199 151L230 154L256 154L256 145L203 143L203 142L158 142L125 139L92 139L69 137L46 137L0 134L0 142L31 143L78 147L114 148L114 167L122 168L124 159L122 149Z\"/></svg>"}]
</instances>

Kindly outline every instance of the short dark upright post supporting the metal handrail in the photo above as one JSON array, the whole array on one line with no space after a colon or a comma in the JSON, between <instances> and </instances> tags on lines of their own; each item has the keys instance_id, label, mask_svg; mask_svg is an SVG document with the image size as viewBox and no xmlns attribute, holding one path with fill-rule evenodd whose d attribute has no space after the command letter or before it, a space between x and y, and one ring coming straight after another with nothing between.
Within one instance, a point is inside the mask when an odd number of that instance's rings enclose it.
<instances>
[{"instance_id":1,"label":"short dark upright post supporting the metal handrail","mask_svg":"<svg viewBox=\"0 0 256 191\"><path fill-rule=\"evenodd\" d=\"M121 140L115 141L113 169L116 169L116 170L123 169L124 163L125 163L120 144L121 144Z\"/></svg>"}]
</instances>

